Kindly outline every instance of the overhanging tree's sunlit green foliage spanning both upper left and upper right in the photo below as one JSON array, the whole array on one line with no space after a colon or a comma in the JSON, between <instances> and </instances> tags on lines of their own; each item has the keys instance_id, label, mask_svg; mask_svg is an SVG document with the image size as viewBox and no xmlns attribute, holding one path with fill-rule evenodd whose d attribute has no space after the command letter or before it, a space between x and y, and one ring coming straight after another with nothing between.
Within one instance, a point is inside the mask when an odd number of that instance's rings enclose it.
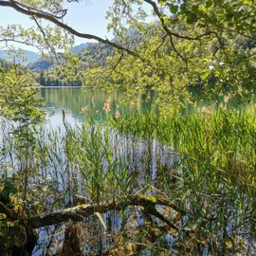
<instances>
[{"instance_id":1,"label":"overhanging tree's sunlit green foliage spanning both upper left and upper right","mask_svg":"<svg viewBox=\"0 0 256 256\"><path fill-rule=\"evenodd\" d=\"M146 5L153 15L145 11ZM30 16L37 27L2 28L3 40L45 46L53 55L57 49L67 49L73 36L114 47L115 56L107 64L85 70L85 86L121 87L129 97L151 88L166 113L176 109L170 104L181 106L183 99L192 100L189 88L200 88L210 98L233 94L248 99L255 92L254 1L115 0L108 11L108 28L118 38L112 41L64 24L68 11L64 1L9 0L0 1L1 6ZM44 19L55 27L43 27ZM132 46L127 44L131 28L139 34ZM239 42L249 46L247 50Z\"/></svg>"}]
</instances>

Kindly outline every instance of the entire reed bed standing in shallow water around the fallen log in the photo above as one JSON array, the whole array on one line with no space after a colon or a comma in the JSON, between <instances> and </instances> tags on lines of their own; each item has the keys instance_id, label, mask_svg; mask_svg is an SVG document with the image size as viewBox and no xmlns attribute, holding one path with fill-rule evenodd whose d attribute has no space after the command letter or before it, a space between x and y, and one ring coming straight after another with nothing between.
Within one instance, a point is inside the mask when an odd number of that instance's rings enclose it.
<instances>
[{"instance_id":1,"label":"entire reed bed standing in shallow water around the fallen log","mask_svg":"<svg viewBox=\"0 0 256 256\"><path fill-rule=\"evenodd\" d=\"M149 113L104 123L91 119L76 127L64 120L56 131L30 127L32 143L26 144L26 151L11 132L16 127L1 123L1 175L15 183L13 194L29 214L124 202L122 210L84 219L84 255L106 253L111 247L126 251L123 255L255 253L253 108L239 112L219 108L168 118ZM26 180L24 154L29 167ZM181 232L164 228L139 207L126 207L126 200L137 194L153 201L164 195L173 202L180 211L164 206L157 210ZM41 229L39 234L34 255L55 253L64 226ZM137 251L124 250L124 245L136 245Z\"/></svg>"}]
</instances>

